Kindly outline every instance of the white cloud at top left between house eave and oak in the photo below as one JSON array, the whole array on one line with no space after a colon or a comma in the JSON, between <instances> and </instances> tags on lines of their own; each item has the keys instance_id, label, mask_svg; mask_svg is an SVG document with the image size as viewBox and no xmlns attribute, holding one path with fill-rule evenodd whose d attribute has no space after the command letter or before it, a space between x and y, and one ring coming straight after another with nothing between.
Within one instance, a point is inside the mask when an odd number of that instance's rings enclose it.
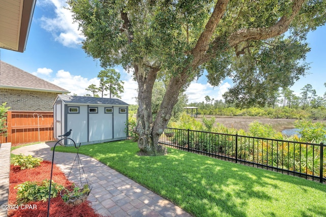
<instances>
[{"instance_id":1,"label":"white cloud at top left between house eave and oak","mask_svg":"<svg viewBox=\"0 0 326 217\"><path fill-rule=\"evenodd\" d=\"M55 7L55 17L42 16L41 27L50 32L56 41L66 47L74 47L85 39L78 30L78 23L73 22L72 13L64 8L68 7L66 0L45 0L39 5Z\"/></svg>"}]
</instances>

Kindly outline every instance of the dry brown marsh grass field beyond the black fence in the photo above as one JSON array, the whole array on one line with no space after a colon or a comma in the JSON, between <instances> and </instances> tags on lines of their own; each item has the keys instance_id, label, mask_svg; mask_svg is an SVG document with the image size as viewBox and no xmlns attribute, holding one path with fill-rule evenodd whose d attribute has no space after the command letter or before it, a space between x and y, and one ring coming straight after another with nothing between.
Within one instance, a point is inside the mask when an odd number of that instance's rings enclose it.
<instances>
[{"instance_id":1,"label":"dry brown marsh grass field beyond the black fence","mask_svg":"<svg viewBox=\"0 0 326 217\"><path fill-rule=\"evenodd\" d=\"M198 115L196 120L202 122L202 115ZM267 123L273 127L274 130L281 132L284 129L294 128L293 122L295 119L270 119L264 117L232 117L232 116L218 116L218 115L205 115L205 118L215 118L215 123L222 123L227 128L235 128L237 130L248 131L249 124L255 120L261 123Z\"/></svg>"}]
</instances>

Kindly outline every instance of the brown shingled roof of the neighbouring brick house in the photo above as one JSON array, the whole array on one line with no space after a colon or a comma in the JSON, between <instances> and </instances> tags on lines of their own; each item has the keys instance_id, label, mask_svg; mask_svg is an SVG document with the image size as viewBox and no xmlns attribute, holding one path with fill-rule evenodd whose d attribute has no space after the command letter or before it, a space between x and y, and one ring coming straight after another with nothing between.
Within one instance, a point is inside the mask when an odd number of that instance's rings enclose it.
<instances>
[{"instance_id":1,"label":"brown shingled roof of the neighbouring brick house","mask_svg":"<svg viewBox=\"0 0 326 217\"><path fill-rule=\"evenodd\" d=\"M68 90L0 61L0 88L23 89L67 94Z\"/></svg>"}]
</instances>

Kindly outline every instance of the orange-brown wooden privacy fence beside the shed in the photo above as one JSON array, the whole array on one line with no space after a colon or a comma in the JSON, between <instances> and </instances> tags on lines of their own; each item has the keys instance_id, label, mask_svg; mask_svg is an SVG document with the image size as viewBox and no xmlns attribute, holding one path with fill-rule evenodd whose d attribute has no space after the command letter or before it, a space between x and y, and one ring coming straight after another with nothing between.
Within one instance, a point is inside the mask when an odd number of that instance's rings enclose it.
<instances>
[{"instance_id":1,"label":"orange-brown wooden privacy fence beside the shed","mask_svg":"<svg viewBox=\"0 0 326 217\"><path fill-rule=\"evenodd\" d=\"M14 145L51 140L54 140L52 111L8 111L7 137L0 136L0 143Z\"/></svg>"}]
</instances>

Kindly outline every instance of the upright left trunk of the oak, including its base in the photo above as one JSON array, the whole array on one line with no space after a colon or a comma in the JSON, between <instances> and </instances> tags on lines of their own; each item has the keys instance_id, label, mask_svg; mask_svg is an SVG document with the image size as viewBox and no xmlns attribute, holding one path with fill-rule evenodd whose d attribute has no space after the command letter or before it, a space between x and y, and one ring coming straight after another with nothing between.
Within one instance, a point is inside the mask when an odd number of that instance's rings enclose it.
<instances>
[{"instance_id":1,"label":"upright left trunk of the oak, including its base","mask_svg":"<svg viewBox=\"0 0 326 217\"><path fill-rule=\"evenodd\" d=\"M138 134L140 154L146 156L164 155L167 153L167 148L158 144L161 134L153 134L152 90L158 69L150 69L148 73L141 65L135 65L134 69L139 87L137 126L134 132Z\"/></svg>"}]
</instances>

